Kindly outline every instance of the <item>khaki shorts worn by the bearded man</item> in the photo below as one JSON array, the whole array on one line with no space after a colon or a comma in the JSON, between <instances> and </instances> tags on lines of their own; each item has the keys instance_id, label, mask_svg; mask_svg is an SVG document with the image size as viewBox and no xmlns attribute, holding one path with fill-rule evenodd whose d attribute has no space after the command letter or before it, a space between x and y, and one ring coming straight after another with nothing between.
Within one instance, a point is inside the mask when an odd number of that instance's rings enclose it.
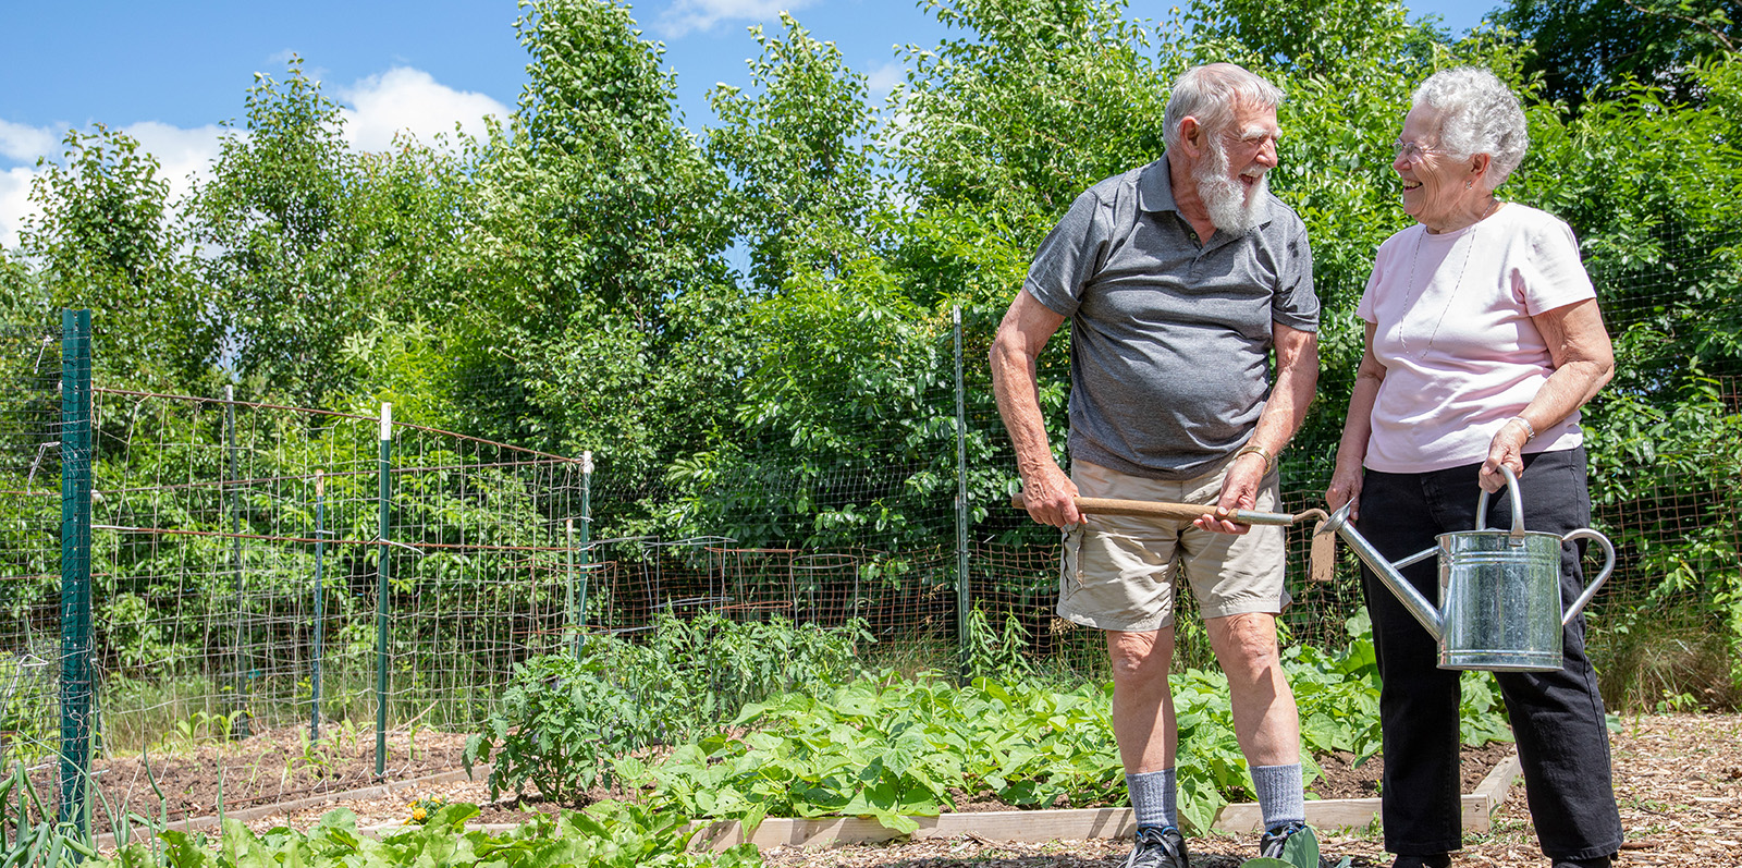
<instances>
[{"instance_id":1,"label":"khaki shorts worn by the bearded man","mask_svg":"<svg viewBox=\"0 0 1742 868\"><path fill-rule=\"evenodd\" d=\"M1209 476L1169 483L1127 476L1087 462L1071 464L1080 497L1167 500L1214 505L1226 467ZM1256 509L1277 504L1277 471L1265 476ZM1280 614L1286 537L1280 526L1254 525L1244 535L1198 530L1190 521L1127 516L1084 516L1064 528L1059 572L1059 617L1085 627L1150 633L1174 622L1179 573L1205 619L1247 612Z\"/></svg>"}]
</instances>

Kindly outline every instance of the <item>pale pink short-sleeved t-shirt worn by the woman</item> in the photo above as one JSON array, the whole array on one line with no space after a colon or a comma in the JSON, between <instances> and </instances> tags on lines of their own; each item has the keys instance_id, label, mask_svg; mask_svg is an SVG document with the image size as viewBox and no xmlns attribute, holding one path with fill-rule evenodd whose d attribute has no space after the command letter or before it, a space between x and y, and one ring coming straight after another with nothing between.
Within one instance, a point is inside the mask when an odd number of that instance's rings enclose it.
<instances>
[{"instance_id":1,"label":"pale pink short-sleeved t-shirt worn by the woman","mask_svg":"<svg viewBox=\"0 0 1742 868\"><path fill-rule=\"evenodd\" d=\"M1507 204L1456 232L1416 223L1385 239L1355 309L1374 324L1373 356L1385 366L1366 465L1425 472L1484 460L1495 432L1554 373L1529 317L1596 296L1571 227L1535 207ZM1524 451L1580 443L1575 410Z\"/></svg>"}]
</instances>

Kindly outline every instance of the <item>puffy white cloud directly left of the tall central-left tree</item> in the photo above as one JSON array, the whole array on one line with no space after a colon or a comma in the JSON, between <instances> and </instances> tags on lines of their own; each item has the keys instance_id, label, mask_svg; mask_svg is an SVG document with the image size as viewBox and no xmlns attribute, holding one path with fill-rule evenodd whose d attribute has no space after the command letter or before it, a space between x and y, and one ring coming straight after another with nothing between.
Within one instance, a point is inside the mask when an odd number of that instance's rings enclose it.
<instances>
[{"instance_id":1,"label":"puffy white cloud directly left of the tall central-left tree","mask_svg":"<svg viewBox=\"0 0 1742 868\"><path fill-rule=\"evenodd\" d=\"M451 134L455 124L469 136L483 136L484 115L509 117L509 108L490 96L455 91L409 66L341 87L338 96L354 106L343 110L345 136L350 146L366 152L390 148L394 134L402 129L430 145L436 134Z\"/></svg>"}]
</instances>

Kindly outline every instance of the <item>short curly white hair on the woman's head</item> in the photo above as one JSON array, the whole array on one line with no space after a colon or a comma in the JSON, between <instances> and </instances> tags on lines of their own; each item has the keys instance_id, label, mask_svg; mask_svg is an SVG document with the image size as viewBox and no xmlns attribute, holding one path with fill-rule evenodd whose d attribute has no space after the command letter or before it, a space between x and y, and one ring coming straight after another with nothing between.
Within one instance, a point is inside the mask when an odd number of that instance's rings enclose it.
<instances>
[{"instance_id":1,"label":"short curly white hair on the woman's head","mask_svg":"<svg viewBox=\"0 0 1742 868\"><path fill-rule=\"evenodd\" d=\"M1411 103L1437 117L1442 150L1458 159L1488 155L1489 190L1524 162L1524 106L1495 73L1477 66L1441 70L1416 87Z\"/></svg>"}]
</instances>

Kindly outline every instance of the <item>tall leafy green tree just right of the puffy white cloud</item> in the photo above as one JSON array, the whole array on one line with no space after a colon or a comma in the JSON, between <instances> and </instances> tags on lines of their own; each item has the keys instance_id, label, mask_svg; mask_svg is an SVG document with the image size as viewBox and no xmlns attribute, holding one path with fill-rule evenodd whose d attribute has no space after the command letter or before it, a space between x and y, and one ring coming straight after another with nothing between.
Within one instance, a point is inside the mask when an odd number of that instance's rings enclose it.
<instances>
[{"instance_id":1,"label":"tall leafy green tree just right of the puffy white cloud","mask_svg":"<svg viewBox=\"0 0 1742 868\"><path fill-rule=\"evenodd\" d=\"M657 479L662 455L723 424L744 368L726 180L676 124L662 49L627 9L523 9L530 82L474 155L456 260L472 289L462 376L500 385L467 413Z\"/></svg>"}]
</instances>

